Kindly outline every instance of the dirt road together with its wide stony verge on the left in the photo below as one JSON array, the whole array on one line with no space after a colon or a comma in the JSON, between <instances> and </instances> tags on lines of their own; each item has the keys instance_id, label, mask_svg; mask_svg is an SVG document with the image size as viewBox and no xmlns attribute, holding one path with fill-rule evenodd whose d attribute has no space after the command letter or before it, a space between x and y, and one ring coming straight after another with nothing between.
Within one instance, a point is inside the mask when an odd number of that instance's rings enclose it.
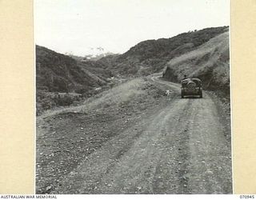
<instances>
[{"instance_id":1,"label":"dirt road together with its wide stony verge on the left","mask_svg":"<svg viewBox=\"0 0 256 200\"><path fill-rule=\"evenodd\" d=\"M151 98L148 90L152 88L155 91L170 90L170 95L158 92L158 96ZM103 121L101 116L97 116L97 112L103 112L100 108L94 110L94 120L88 117L88 108L82 111L81 107L74 108L76 111L38 118L37 192L232 193L230 124L229 118L222 113L221 103L206 92L203 98L182 99L177 84L156 76L150 77L146 87L143 85L139 91L142 93L131 95L132 105L130 102L123 106L118 103L115 113L110 114L114 112L112 104L103 106L102 109L109 114ZM72 118L76 119L71 122ZM91 138L84 137L86 139L82 139L82 144L75 143L71 150L66 150L65 138L70 137L70 142L74 137L86 135L81 127L84 123L87 135L97 130L102 137L92 145L92 139L99 137L94 132ZM90 148L90 145L94 147ZM56 151L58 146L63 146L59 154L47 151L50 148ZM65 157L63 154L73 155ZM78 161L68 166L72 158L78 158ZM62 172L62 166L56 162L66 162L62 164L66 171ZM53 165L50 166L50 163ZM56 168L59 173L53 172Z\"/></svg>"}]
</instances>

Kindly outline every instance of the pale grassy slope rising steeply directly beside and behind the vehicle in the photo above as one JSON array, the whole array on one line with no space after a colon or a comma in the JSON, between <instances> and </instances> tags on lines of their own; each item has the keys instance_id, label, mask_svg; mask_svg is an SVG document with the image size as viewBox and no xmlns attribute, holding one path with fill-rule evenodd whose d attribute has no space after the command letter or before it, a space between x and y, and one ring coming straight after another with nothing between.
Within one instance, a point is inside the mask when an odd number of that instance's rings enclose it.
<instances>
[{"instance_id":1,"label":"pale grassy slope rising steeply directly beside and behind the vehicle","mask_svg":"<svg viewBox=\"0 0 256 200\"><path fill-rule=\"evenodd\" d=\"M230 92L229 32L219 34L186 54L171 59L163 71L163 78L180 82L183 76L202 79L206 90L225 96Z\"/></svg>"}]
</instances>

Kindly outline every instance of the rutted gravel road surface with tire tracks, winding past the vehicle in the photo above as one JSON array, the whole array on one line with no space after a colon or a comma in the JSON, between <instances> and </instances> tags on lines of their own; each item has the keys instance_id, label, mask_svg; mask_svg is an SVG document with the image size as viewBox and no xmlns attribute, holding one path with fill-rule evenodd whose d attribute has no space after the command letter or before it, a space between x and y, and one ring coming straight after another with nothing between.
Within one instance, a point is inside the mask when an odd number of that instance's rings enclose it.
<instances>
[{"instance_id":1,"label":"rutted gravel road surface with tire tracks, winding past the vehicle","mask_svg":"<svg viewBox=\"0 0 256 200\"><path fill-rule=\"evenodd\" d=\"M214 102L179 98L176 83L150 82L174 91L166 106L104 143L56 190L61 194L228 194L230 162ZM217 147L216 147L217 146ZM215 147L215 148L214 148ZM224 153L220 150L224 150ZM212 156L214 154L214 156ZM202 162L202 159L204 163ZM216 166L226 167L225 174ZM220 173L211 174L212 173ZM209 172L206 174L206 172ZM72 184L70 184L70 182ZM226 186L227 185L227 186Z\"/></svg>"}]
</instances>

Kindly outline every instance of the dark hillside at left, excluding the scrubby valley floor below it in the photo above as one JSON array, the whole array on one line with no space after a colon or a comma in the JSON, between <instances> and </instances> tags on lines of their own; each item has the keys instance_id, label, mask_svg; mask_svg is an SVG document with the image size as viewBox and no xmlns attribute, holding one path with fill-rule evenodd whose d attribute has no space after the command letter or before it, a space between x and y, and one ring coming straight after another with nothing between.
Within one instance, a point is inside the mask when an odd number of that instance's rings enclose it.
<instances>
[{"instance_id":1,"label":"dark hillside at left, excluding the scrubby valley floor below it","mask_svg":"<svg viewBox=\"0 0 256 200\"><path fill-rule=\"evenodd\" d=\"M96 72L94 74L94 72ZM37 89L50 92L74 92L106 84L110 72L95 62L78 62L42 46L36 46Z\"/></svg>"}]
</instances>

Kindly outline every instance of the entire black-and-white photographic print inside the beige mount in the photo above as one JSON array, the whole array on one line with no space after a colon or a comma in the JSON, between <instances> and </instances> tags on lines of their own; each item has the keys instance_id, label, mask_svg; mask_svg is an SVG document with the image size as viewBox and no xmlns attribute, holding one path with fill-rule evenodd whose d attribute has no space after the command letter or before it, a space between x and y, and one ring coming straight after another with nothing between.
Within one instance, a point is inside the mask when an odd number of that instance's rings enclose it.
<instances>
[{"instance_id":1,"label":"entire black-and-white photographic print inside the beige mount","mask_svg":"<svg viewBox=\"0 0 256 200\"><path fill-rule=\"evenodd\" d=\"M230 1L34 0L36 194L232 194Z\"/></svg>"}]
</instances>

